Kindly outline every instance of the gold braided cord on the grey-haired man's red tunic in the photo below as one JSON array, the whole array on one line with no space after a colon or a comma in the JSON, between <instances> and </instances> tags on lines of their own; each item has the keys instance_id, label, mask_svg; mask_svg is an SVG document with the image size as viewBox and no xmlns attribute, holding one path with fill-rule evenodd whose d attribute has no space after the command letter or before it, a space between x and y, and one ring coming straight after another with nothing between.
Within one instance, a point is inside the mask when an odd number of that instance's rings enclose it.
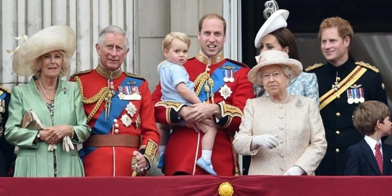
<instances>
[{"instance_id":1,"label":"gold braided cord on the grey-haired man's red tunic","mask_svg":"<svg viewBox=\"0 0 392 196\"><path fill-rule=\"evenodd\" d=\"M93 104L96 102L94 108L92 109L91 113L88 114L87 116L87 123L90 122L91 118L95 115L95 113L98 111L100 108L102 102L105 100L105 97L109 94L109 87L103 87L97 94L90 98L86 98L83 94L83 85L81 84L81 81L78 76L74 76L74 79L76 83L79 85L80 88L80 94L82 97L82 103L83 104Z\"/></svg>"}]
</instances>

